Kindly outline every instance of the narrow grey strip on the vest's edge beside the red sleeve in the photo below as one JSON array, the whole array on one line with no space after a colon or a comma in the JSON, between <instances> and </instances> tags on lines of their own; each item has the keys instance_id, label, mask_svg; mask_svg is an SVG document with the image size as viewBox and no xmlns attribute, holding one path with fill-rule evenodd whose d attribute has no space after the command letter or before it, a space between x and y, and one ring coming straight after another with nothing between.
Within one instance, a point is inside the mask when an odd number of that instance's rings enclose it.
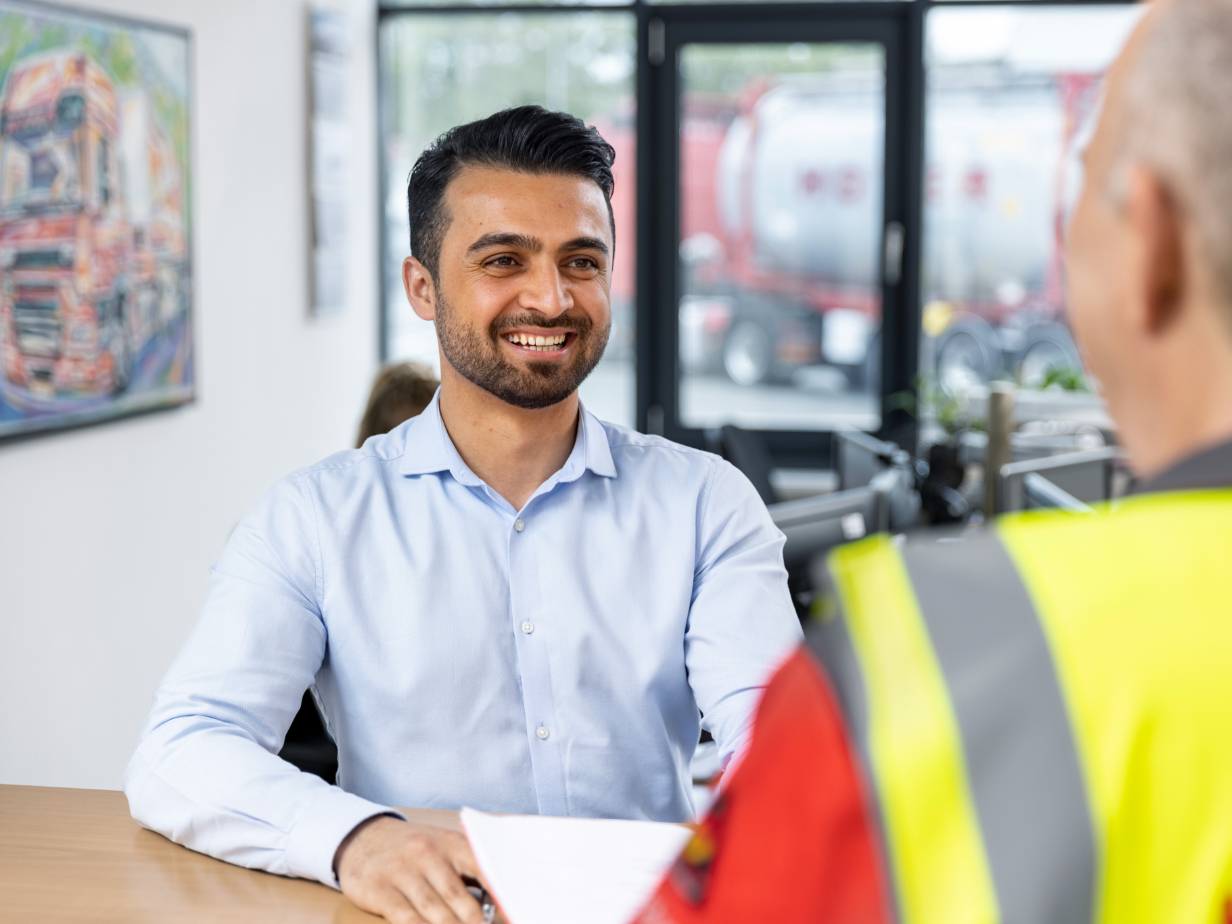
<instances>
[{"instance_id":1,"label":"narrow grey strip on the vest's edge beside the red sleeve","mask_svg":"<svg viewBox=\"0 0 1232 924\"><path fill-rule=\"evenodd\" d=\"M848 737L860 756L860 777L864 791L867 793L867 808L876 827L885 907L890 909L894 922L901 922L903 914L898 907L898 892L893 888L894 873L886 846L886 824L881 814L881 802L876 798L877 787L873 784L872 760L869 755L869 697L864 689L860 662L856 660L855 648L851 647L846 620L839 615L827 622L813 623L804 632L804 643L825 669L830 684L834 686L839 706L843 710L843 718L846 721Z\"/></svg>"}]
</instances>

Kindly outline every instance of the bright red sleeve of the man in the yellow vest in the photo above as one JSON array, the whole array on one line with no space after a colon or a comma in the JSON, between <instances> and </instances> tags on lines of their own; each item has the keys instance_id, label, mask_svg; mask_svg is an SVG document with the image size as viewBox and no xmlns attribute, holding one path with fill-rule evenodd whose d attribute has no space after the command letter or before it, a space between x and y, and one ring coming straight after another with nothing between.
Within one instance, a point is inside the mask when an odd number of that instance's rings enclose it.
<instances>
[{"instance_id":1,"label":"bright red sleeve of the man in the yellow vest","mask_svg":"<svg viewBox=\"0 0 1232 924\"><path fill-rule=\"evenodd\" d=\"M744 760L637 924L890 924L869 806L833 687L801 648L771 680Z\"/></svg>"}]
</instances>

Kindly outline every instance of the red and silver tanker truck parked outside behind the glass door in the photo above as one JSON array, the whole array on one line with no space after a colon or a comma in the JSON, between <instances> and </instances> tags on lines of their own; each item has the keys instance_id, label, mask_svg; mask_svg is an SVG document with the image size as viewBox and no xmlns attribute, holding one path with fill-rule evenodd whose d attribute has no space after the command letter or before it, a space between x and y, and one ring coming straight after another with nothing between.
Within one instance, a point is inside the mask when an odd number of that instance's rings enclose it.
<instances>
[{"instance_id":1,"label":"red and silver tanker truck parked outside behind the glass door","mask_svg":"<svg viewBox=\"0 0 1232 924\"><path fill-rule=\"evenodd\" d=\"M1060 240L1095 80L984 70L929 95L925 371L944 384L1080 368ZM871 386L883 163L880 75L817 75L686 101L680 352L739 384L828 365Z\"/></svg>"}]
</instances>

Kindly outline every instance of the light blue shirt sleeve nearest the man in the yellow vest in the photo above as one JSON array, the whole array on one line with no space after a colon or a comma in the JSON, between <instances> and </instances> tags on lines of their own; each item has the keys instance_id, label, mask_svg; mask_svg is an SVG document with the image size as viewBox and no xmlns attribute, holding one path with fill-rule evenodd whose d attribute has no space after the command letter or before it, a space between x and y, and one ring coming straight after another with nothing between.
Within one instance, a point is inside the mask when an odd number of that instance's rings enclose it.
<instances>
[{"instance_id":1,"label":"light blue shirt sleeve nearest the man in the yellow vest","mask_svg":"<svg viewBox=\"0 0 1232 924\"><path fill-rule=\"evenodd\" d=\"M784 536L728 462L716 462L699 520L685 664L702 727L726 766L748 739L761 689L802 632L787 591Z\"/></svg>"}]
</instances>

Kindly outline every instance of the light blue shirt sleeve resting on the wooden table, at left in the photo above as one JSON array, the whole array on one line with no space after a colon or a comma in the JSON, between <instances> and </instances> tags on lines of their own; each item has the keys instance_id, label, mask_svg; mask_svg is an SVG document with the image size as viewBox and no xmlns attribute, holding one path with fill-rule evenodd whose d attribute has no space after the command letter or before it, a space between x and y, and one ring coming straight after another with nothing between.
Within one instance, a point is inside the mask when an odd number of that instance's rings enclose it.
<instances>
[{"instance_id":1,"label":"light blue shirt sleeve resting on the wooden table, at left","mask_svg":"<svg viewBox=\"0 0 1232 924\"><path fill-rule=\"evenodd\" d=\"M133 818L240 866L338 887L342 839L384 806L277 756L325 653L317 526L294 479L237 526L124 774Z\"/></svg>"}]
</instances>

